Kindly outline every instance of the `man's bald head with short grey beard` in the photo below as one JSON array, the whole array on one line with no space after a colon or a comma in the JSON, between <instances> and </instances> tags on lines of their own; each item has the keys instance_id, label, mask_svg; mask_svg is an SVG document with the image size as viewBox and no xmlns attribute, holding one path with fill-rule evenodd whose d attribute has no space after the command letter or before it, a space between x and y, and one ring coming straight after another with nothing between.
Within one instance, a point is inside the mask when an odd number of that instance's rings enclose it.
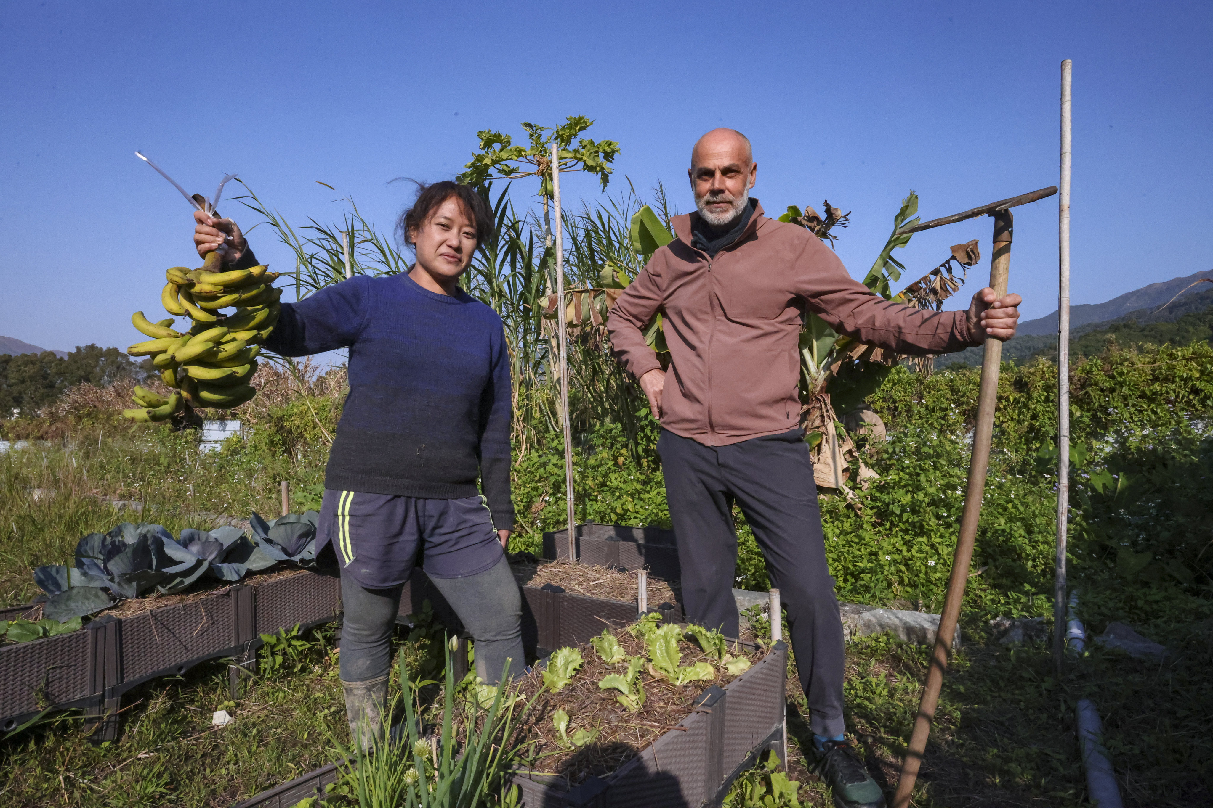
<instances>
[{"instance_id":1,"label":"man's bald head with short grey beard","mask_svg":"<svg viewBox=\"0 0 1213 808\"><path fill-rule=\"evenodd\" d=\"M712 130L695 142L687 174L705 222L713 228L736 222L758 177L750 138L736 130Z\"/></svg>"}]
</instances>

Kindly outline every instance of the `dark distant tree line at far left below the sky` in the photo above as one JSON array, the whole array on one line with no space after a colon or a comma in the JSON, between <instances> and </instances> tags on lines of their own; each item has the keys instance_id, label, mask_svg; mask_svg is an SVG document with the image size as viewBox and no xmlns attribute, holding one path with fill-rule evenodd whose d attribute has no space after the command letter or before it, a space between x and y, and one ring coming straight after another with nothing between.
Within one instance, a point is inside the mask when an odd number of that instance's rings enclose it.
<instances>
[{"instance_id":1,"label":"dark distant tree line at far left below the sky","mask_svg":"<svg viewBox=\"0 0 1213 808\"><path fill-rule=\"evenodd\" d=\"M63 359L51 351L0 354L0 418L15 409L30 414L76 384L104 388L119 379L143 379L149 372L143 365L150 362L136 363L116 348L99 345L78 345Z\"/></svg>"}]
</instances>

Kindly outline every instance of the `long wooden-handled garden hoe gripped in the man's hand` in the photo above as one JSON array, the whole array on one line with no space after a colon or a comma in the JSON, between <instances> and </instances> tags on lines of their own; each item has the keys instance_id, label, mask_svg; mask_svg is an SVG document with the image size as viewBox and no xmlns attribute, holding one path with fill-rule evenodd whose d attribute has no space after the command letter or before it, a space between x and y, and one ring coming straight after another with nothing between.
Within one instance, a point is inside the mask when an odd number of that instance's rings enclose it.
<instances>
[{"instance_id":1,"label":"long wooden-handled garden hoe gripped in the man's hand","mask_svg":"<svg viewBox=\"0 0 1213 808\"><path fill-rule=\"evenodd\" d=\"M1010 270L1010 235L1014 229L1014 217L1010 208L1027 202L1042 200L1058 193L1057 185L1041 190L974 207L963 213L945 216L902 228L898 234L918 233L943 224L963 222L978 216L993 217L993 257L990 260L990 288L1000 298L1007 294L1007 279ZM990 436L993 431L993 408L998 395L998 363L1002 360L1002 342L986 337L985 356L981 362L981 386L978 394L978 423L973 432L973 459L969 462L969 482L964 492L964 512L961 516L961 538L956 544L956 556L952 560L952 574L947 580L947 597L944 600L944 613L935 632L935 648L932 653L930 669L927 671L927 684L918 704L913 733L906 750L905 763L901 766L901 778L898 792L893 800L894 808L907 808L913 793L915 780L918 779L918 767L927 749L930 735L930 722L935 717L939 704L939 688L944 683L944 667L947 666L947 649L956 634L956 621L961 614L961 601L964 598L964 585L968 583L969 562L973 560L973 540L978 533L978 517L981 515L981 494L985 489L986 469L990 465Z\"/></svg>"}]
</instances>

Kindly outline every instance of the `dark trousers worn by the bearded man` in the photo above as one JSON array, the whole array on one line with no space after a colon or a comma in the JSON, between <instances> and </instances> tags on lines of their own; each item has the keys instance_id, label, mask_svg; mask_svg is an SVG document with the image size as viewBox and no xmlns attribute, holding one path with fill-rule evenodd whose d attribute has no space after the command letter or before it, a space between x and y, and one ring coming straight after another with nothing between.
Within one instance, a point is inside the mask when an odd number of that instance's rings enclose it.
<instances>
[{"instance_id":1,"label":"dark trousers worn by the bearded man","mask_svg":"<svg viewBox=\"0 0 1213 808\"><path fill-rule=\"evenodd\" d=\"M787 609L813 732L833 738L845 732L842 620L803 435L797 429L731 446L704 446L664 429L657 451L678 539L687 619L738 636L736 502Z\"/></svg>"}]
</instances>

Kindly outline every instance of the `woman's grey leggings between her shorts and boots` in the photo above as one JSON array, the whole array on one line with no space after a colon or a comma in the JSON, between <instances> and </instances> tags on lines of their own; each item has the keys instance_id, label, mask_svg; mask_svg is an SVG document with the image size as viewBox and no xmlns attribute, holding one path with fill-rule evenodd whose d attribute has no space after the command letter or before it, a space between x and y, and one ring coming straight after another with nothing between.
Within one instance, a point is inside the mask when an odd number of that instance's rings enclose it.
<instances>
[{"instance_id":1,"label":"woman's grey leggings between her shorts and boots","mask_svg":"<svg viewBox=\"0 0 1213 808\"><path fill-rule=\"evenodd\" d=\"M509 670L523 670L522 592L509 562L502 556L494 567L467 578L431 578L475 641L475 675L489 684ZM341 680L365 682L386 676L392 667L392 629L404 584L365 589L341 572Z\"/></svg>"}]
</instances>

